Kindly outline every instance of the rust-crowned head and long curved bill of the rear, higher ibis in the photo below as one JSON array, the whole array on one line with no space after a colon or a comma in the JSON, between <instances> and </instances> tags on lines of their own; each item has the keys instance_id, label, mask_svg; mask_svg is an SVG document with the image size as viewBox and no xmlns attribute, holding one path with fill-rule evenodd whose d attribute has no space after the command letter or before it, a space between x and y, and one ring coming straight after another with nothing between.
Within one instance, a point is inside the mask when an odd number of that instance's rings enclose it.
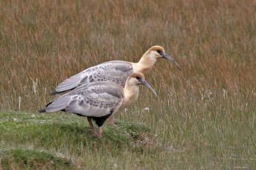
<instances>
[{"instance_id":1,"label":"rust-crowned head and long curved bill of the rear, higher ibis","mask_svg":"<svg viewBox=\"0 0 256 170\"><path fill-rule=\"evenodd\" d=\"M170 60L175 64L175 66L177 66L179 68L179 70L181 70L179 64L177 62L175 62L175 60L168 53L165 52L165 50L162 46L158 46L158 45L152 46L151 48L149 48L149 50L147 50L145 55L150 57L151 60L157 60L160 58Z\"/></svg>"}]
</instances>

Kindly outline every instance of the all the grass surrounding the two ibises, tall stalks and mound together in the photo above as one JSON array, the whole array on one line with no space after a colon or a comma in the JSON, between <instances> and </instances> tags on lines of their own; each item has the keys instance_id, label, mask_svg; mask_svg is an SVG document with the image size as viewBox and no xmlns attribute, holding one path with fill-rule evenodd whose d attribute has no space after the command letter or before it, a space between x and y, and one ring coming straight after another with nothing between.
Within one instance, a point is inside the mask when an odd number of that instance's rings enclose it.
<instances>
[{"instance_id":1,"label":"all the grass surrounding the two ibises, tall stalks and mound together","mask_svg":"<svg viewBox=\"0 0 256 170\"><path fill-rule=\"evenodd\" d=\"M14 168L31 167L34 161L36 167L67 169L252 169L256 166L255 18L253 0L0 1L1 163ZM151 129L157 137L150 146L134 149L133 138L116 144L106 137L115 134L108 125L102 141L73 131L88 128L81 117L38 115L65 78L107 60L136 62L153 45L163 46L182 71L159 60L147 75L159 97L141 88L139 101L115 115ZM149 110L143 110L146 107ZM56 127L49 129L56 138L49 137L47 126L38 130L42 127L38 119L55 122ZM14 133L17 122L30 130ZM55 132L58 127L64 129ZM127 133L133 132L137 130ZM44 133L48 138L40 138ZM68 142L74 138L76 142ZM50 142L41 145L43 139ZM65 159L60 160L58 153ZM41 159L20 163L17 155Z\"/></svg>"}]
</instances>

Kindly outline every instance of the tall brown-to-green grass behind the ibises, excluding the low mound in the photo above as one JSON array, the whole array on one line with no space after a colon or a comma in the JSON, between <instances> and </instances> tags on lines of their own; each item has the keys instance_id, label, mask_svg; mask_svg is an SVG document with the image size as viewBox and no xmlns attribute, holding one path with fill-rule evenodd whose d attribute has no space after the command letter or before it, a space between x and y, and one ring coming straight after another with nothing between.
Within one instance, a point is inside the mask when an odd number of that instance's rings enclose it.
<instances>
[{"instance_id":1,"label":"tall brown-to-green grass behind the ibises, excluding the low mound","mask_svg":"<svg viewBox=\"0 0 256 170\"><path fill-rule=\"evenodd\" d=\"M166 145L255 157L255 1L1 1L0 12L1 110L19 110L20 97L20 110L36 111L65 78L161 45L182 71L159 60L147 75L159 97L141 88L116 117L145 122Z\"/></svg>"}]
</instances>

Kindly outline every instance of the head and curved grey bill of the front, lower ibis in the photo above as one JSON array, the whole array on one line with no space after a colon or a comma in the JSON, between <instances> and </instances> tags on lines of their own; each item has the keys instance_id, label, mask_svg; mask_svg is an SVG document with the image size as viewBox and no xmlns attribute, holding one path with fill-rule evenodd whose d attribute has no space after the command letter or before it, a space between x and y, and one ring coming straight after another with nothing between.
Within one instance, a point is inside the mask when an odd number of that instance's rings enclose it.
<instances>
[{"instance_id":1,"label":"head and curved grey bill of the front, lower ibis","mask_svg":"<svg viewBox=\"0 0 256 170\"><path fill-rule=\"evenodd\" d=\"M136 72L133 73L131 76L126 81L127 85L132 85L132 86L139 86L139 85L145 85L148 89L150 89L155 96L156 92L154 89L148 84L148 82L145 80L145 76L142 73ZM126 85L125 85L126 86Z\"/></svg>"}]
</instances>

